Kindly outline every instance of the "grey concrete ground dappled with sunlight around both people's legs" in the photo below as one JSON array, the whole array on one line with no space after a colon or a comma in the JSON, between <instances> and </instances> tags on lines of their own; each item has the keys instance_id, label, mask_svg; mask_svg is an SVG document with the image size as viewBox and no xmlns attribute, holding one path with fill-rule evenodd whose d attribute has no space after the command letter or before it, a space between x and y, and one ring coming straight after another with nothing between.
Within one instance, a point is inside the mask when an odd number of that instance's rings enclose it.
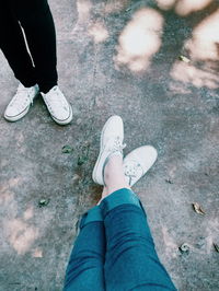
<instances>
[{"instance_id":1,"label":"grey concrete ground dappled with sunlight around both people's legs","mask_svg":"<svg viewBox=\"0 0 219 291\"><path fill-rule=\"evenodd\" d=\"M0 290L61 290L77 219L101 195L91 173L113 114L125 123L125 153L158 149L134 189L175 286L219 290L218 1L50 0L50 8L73 121L56 125L38 98L25 118L7 123L18 81L0 55Z\"/></svg>"}]
</instances>

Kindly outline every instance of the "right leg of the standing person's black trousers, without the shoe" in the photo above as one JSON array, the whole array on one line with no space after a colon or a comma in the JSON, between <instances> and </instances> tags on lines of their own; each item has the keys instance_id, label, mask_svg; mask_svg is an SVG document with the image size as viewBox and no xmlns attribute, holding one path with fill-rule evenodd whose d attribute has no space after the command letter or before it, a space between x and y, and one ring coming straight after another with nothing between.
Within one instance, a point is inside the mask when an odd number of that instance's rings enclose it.
<instances>
[{"instance_id":1,"label":"right leg of the standing person's black trousers, without the shoe","mask_svg":"<svg viewBox=\"0 0 219 291\"><path fill-rule=\"evenodd\" d=\"M36 69L39 90L57 85L56 32L47 0L14 0L16 16L24 28Z\"/></svg>"}]
</instances>

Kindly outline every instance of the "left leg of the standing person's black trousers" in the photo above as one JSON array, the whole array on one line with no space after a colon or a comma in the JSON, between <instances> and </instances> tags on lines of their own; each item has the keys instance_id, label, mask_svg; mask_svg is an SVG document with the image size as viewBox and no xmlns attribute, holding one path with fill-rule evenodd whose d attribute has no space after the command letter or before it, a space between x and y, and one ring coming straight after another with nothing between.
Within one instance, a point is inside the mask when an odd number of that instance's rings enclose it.
<instances>
[{"instance_id":1,"label":"left leg of the standing person's black trousers","mask_svg":"<svg viewBox=\"0 0 219 291\"><path fill-rule=\"evenodd\" d=\"M27 53L21 26L15 18L12 1L2 1L0 4L0 49L15 78L26 88L35 85L35 69Z\"/></svg>"}]
</instances>

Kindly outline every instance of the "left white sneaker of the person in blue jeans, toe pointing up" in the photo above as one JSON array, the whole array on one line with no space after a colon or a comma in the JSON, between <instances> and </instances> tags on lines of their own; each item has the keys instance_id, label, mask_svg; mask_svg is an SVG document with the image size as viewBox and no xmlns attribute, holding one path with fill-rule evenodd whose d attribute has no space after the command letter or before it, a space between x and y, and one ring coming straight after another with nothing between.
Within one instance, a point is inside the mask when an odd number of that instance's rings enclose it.
<instances>
[{"instance_id":1,"label":"left white sneaker of the person in blue jeans, toe pointing up","mask_svg":"<svg viewBox=\"0 0 219 291\"><path fill-rule=\"evenodd\" d=\"M105 123L101 132L101 148L97 161L93 168L92 178L95 183L104 185L104 167L110 155L120 154L123 156L124 125L119 116L112 116Z\"/></svg>"}]
</instances>

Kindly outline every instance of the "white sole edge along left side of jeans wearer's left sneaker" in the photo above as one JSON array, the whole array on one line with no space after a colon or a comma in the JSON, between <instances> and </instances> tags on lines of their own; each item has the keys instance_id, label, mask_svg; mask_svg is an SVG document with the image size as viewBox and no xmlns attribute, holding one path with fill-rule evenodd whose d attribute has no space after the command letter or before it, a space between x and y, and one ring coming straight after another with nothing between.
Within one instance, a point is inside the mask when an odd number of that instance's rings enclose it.
<instances>
[{"instance_id":1,"label":"white sole edge along left side of jeans wearer's left sneaker","mask_svg":"<svg viewBox=\"0 0 219 291\"><path fill-rule=\"evenodd\" d=\"M108 120L105 123L102 131L101 131L101 146L100 146L100 153L99 153L99 156L97 156L97 160L96 160L96 163L94 165L94 168L93 168L93 173L92 173L92 179L94 183L99 184L99 185L104 185L104 182L103 182L103 166L104 166L104 162L101 162L101 158L102 158L102 154L103 154L103 139L104 139L104 135L105 135L105 130L106 128L108 127L108 125L111 124L112 119L114 118L119 118L123 123L123 119L120 118L120 116L117 116L117 115L114 115L112 117L108 118ZM101 177L100 177L101 176Z\"/></svg>"}]
</instances>

